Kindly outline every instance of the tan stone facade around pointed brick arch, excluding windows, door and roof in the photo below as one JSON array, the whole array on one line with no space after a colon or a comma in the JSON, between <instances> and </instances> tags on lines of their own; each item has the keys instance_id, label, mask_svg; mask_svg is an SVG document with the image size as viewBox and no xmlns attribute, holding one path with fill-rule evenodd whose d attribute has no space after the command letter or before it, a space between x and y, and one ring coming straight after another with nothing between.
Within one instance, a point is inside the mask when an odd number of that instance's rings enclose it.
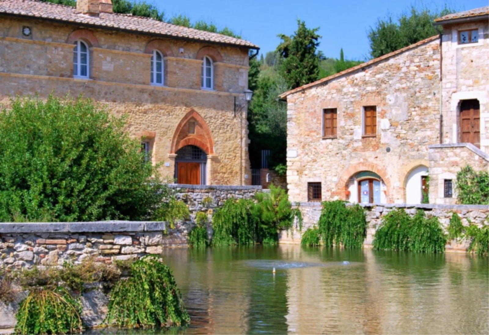
<instances>
[{"instance_id":1,"label":"tan stone facade around pointed brick arch, excluding windows, door and roof","mask_svg":"<svg viewBox=\"0 0 489 335\"><path fill-rule=\"evenodd\" d=\"M29 26L32 34L22 35ZM89 45L90 75L73 78L74 41ZM154 49L163 53L165 83L150 83ZM214 89L201 89L204 55L214 59ZM148 141L154 164L174 178L176 151L196 145L207 154L206 184L249 185L246 107L248 49L155 37L115 29L29 18L0 20L0 105L38 94L82 95L127 115L127 131ZM189 133L189 123L195 132Z\"/></svg>"}]
</instances>

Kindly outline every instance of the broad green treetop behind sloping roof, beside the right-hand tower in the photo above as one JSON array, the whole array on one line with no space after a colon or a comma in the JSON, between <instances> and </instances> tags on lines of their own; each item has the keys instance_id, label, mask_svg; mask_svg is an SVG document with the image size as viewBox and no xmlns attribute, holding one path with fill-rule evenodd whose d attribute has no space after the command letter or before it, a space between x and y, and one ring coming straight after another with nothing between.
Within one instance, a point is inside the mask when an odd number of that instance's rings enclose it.
<instances>
[{"instance_id":1,"label":"broad green treetop behind sloping roof, beside the right-hand tower","mask_svg":"<svg viewBox=\"0 0 489 335\"><path fill-rule=\"evenodd\" d=\"M402 13L397 21L390 15L378 19L368 32L371 56L377 58L440 34L441 28L433 25L433 21L452 12L446 7L440 12L432 12L427 8L417 9L413 6L409 13Z\"/></svg>"}]
</instances>

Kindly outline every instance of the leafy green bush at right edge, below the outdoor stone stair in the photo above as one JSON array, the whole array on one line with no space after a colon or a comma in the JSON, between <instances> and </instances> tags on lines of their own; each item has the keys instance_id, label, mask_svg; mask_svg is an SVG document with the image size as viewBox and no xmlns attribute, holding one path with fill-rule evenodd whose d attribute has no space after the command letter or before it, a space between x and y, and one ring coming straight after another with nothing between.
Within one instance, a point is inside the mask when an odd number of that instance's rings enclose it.
<instances>
[{"instance_id":1,"label":"leafy green bush at right edge, below the outdoor stone stair","mask_svg":"<svg viewBox=\"0 0 489 335\"><path fill-rule=\"evenodd\" d=\"M489 204L489 172L476 172L469 165L457 173L457 199L465 205Z\"/></svg>"}]
</instances>

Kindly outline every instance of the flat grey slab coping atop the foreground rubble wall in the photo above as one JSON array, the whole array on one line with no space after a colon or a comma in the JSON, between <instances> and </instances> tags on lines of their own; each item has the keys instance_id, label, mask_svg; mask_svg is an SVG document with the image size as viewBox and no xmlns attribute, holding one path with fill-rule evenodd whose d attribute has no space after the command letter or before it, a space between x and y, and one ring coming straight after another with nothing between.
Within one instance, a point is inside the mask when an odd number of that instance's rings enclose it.
<instances>
[{"instance_id":1,"label":"flat grey slab coping atop the foreground rubble wall","mask_svg":"<svg viewBox=\"0 0 489 335\"><path fill-rule=\"evenodd\" d=\"M2 222L0 233L144 232L165 230L160 221Z\"/></svg>"}]
</instances>

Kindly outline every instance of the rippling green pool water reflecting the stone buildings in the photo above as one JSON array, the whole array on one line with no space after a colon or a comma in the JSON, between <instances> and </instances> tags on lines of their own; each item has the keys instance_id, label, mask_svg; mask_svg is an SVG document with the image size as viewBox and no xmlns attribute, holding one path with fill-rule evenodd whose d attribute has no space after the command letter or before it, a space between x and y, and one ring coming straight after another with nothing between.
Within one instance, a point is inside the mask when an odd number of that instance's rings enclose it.
<instances>
[{"instance_id":1,"label":"rippling green pool water reflecting the stone buildings","mask_svg":"<svg viewBox=\"0 0 489 335\"><path fill-rule=\"evenodd\" d=\"M163 258L192 318L170 334L489 334L488 258L289 245Z\"/></svg>"}]
</instances>

